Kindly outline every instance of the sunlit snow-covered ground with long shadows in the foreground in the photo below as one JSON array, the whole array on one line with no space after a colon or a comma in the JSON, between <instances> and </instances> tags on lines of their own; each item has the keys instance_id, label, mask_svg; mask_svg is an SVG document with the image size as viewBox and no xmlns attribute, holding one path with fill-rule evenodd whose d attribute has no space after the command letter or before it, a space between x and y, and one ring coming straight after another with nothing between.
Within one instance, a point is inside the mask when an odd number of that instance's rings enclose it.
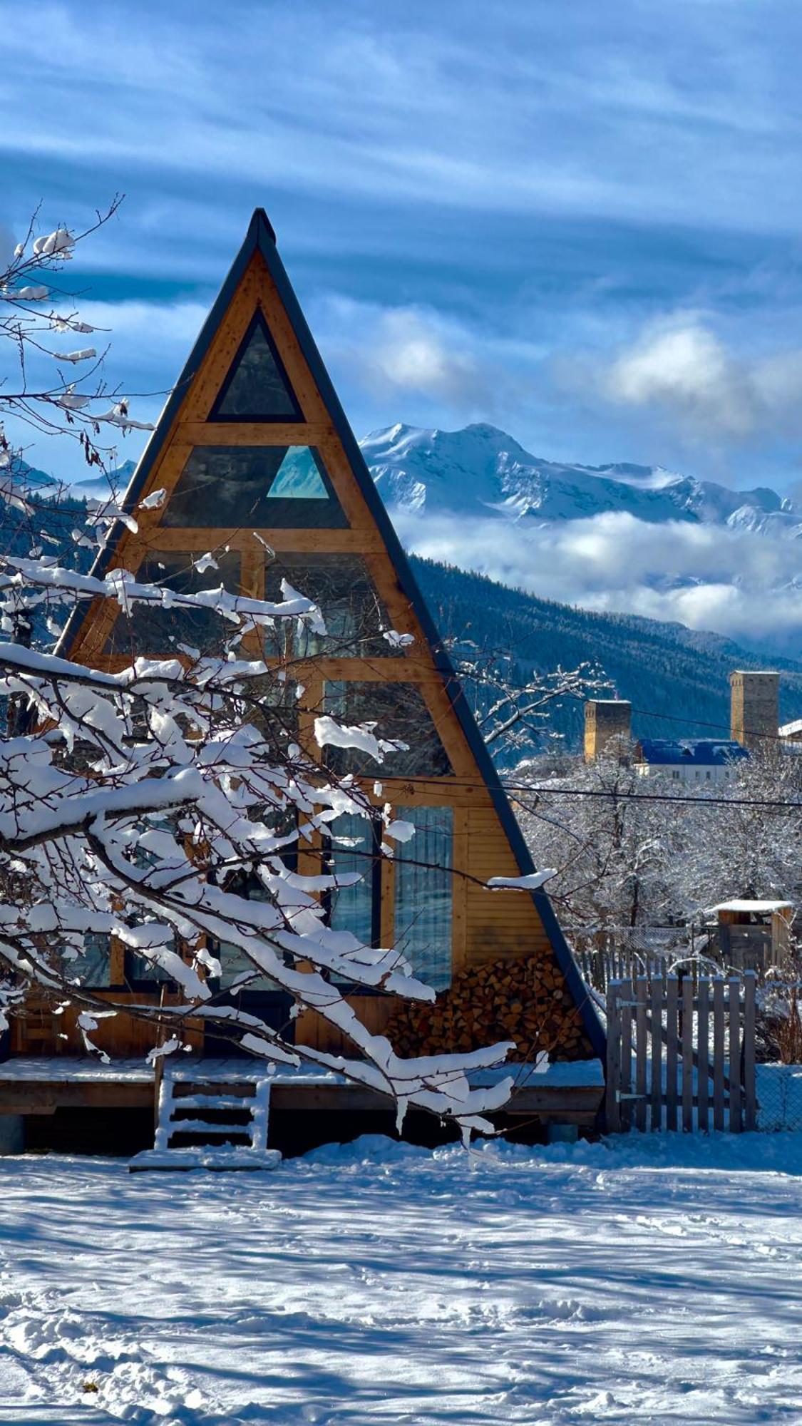
<instances>
[{"instance_id":1,"label":"sunlit snow-covered ground with long shadows in the foreground","mask_svg":"<svg viewBox=\"0 0 802 1426\"><path fill-rule=\"evenodd\" d=\"M802 1422L798 1135L0 1159L0 1422Z\"/></svg>"}]
</instances>

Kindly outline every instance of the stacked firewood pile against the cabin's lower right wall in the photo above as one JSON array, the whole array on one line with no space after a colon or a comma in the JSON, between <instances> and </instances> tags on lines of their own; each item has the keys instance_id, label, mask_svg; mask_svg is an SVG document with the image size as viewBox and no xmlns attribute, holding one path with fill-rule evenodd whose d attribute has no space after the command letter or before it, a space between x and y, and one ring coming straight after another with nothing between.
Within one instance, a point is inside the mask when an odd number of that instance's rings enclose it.
<instances>
[{"instance_id":1,"label":"stacked firewood pile against the cabin's lower right wall","mask_svg":"<svg viewBox=\"0 0 802 1426\"><path fill-rule=\"evenodd\" d=\"M552 1060L592 1052L559 967L535 957L472 965L434 1004L404 1001L387 1035L400 1055L465 1052L499 1040L515 1041L512 1061L531 1061L539 1050Z\"/></svg>"}]
</instances>

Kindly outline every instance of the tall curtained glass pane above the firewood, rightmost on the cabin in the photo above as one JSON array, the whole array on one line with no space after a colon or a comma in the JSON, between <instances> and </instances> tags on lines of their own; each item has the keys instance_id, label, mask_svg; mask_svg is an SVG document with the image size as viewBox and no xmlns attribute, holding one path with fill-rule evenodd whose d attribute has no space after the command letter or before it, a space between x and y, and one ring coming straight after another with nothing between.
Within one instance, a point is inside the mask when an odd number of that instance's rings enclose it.
<instances>
[{"instance_id":1,"label":"tall curtained glass pane above the firewood, rightmost on the cabin","mask_svg":"<svg viewBox=\"0 0 802 1426\"><path fill-rule=\"evenodd\" d=\"M395 851L395 947L415 975L451 984L454 814L451 807L398 807L415 836Z\"/></svg>"}]
</instances>

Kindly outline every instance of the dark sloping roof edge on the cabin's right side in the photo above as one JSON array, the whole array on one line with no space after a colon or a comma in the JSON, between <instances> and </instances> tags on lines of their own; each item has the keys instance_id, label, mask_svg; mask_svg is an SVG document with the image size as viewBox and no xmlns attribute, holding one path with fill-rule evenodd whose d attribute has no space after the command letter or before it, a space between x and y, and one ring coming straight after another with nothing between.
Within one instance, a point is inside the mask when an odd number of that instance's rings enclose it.
<instances>
[{"instance_id":1,"label":"dark sloping roof edge on the cabin's right side","mask_svg":"<svg viewBox=\"0 0 802 1426\"><path fill-rule=\"evenodd\" d=\"M345 451L345 455L348 456L351 469L354 472L354 478L378 526L378 530L385 542L387 550L390 553L390 558L392 559L395 573L398 576L398 582L404 593L407 595L412 609L415 610L418 622L432 649L437 667L444 676L445 692L460 720L460 726L462 729L462 733L465 734L471 753L474 754L479 773L488 787L492 804L495 807L501 826L504 827L509 846L512 847L512 853L515 856L515 861L518 863L521 876L528 876L535 870L535 866L529 856L529 848L527 847L524 834L518 826L515 814L512 813L509 801L507 800L507 793L501 786L498 773L495 770L495 764L477 727L477 722L474 719L474 714L471 713L471 709L468 706L460 680L457 679L451 659L448 657L448 653L442 647L441 636L434 625L428 606L418 589L418 583L415 580L415 576L412 575L401 540L395 533L395 528L390 519L390 515L387 513L384 501L381 499L375 488L365 458L360 449L360 443L354 436L354 432L351 431L348 418L342 409L342 405L334 389L334 385L323 361L323 356L320 355L317 342L301 311L301 305L298 302L298 298L295 297L295 291L293 288L284 262L281 261L275 242L263 244L260 238L260 251L267 264L270 275L275 282L278 295L284 304L287 315L290 317L290 322L293 324L293 329L295 332L298 345L304 355L304 361L307 362L317 382L318 391L331 414L334 429L337 431L337 435L342 442L342 448ZM488 896L491 894L492 893L488 893ZM557 920L554 907L548 896L545 896L545 893L532 891L531 896L541 917L544 930L552 945L557 963L565 977L568 990L574 997L574 1001L579 1007L579 1012L582 1015L582 1028L585 1030L594 1047L594 1052L599 1055L604 1061L606 1050L605 1034L599 1017L597 1014L597 1008L588 994L582 977L579 975L577 963L571 954L571 950L562 933L562 927Z\"/></svg>"}]
</instances>

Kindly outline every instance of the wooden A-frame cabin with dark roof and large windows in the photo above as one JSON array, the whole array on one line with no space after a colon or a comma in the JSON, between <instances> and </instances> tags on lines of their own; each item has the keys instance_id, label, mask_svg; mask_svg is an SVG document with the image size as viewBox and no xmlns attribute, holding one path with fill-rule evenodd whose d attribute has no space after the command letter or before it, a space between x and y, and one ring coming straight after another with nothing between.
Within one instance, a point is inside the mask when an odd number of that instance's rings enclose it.
<instances>
[{"instance_id":1,"label":"wooden A-frame cabin with dark roof and large windows","mask_svg":"<svg viewBox=\"0 0 802 1426\"><path fill-rule=\"evenodd\" d=\"M304 710L324 709L347 723L375 720L381 736L410 744L382 767L368 759L347 770L371 790L381 780L377 801L391 801L417 827L414 854L405 860L401 847L395 860L377 860L330 914L362 940L402 945L440 995L424 1011L357 998L370 1027L387 1028L402 1052L467 1050L504 1034L524 1060L537 1044L552 1060L599 1055L601 1027L548 897L482 886L532 866L261 210L138 463L126 509L137 530L117 528L96 573L126 568L178 589L223 579L255 597L273 597L285 578L320 602L328 636L287 650L250 635L244 649L268 663L291 660L305 687L300 742L311 739L313 712ZM205 552L217 568L198 570L193 560ZM388 630L412 639L387 639ZM198 646L211 635L197 615L177 627L151 612L127 619L114 602L96 600L76 610L60 652L118 669L131 653L174 652L176 636ZM364 836L364 823L340 830ZM321 848L301 856L313 858L304 870L320 868ZM342 857L337 866L347 868ZM148 983L147 963L116 954L110 994L120 1001L121 987L137 1001L156 1001L161 988ZM231 953L224 970L238 968ZM74 1054L66 1021L63 1050ZM117 1015L96 1038L113 1055L131 1055L151 1035L151 1025ZM311 1014L300 1018L297 1041L338 1048ZM57 1048L47 1025L17 1022L16 1054ZM203 1037L197 1048L203 1052Z\"/></svg>"}]
</instances>

